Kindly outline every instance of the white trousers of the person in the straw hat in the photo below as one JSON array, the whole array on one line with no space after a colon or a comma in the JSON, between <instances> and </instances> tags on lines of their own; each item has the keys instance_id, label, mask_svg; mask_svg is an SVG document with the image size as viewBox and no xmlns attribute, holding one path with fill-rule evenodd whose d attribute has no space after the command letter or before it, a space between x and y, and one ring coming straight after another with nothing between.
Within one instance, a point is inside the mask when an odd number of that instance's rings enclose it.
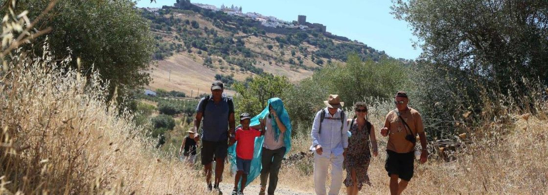
<instances>
[{"instance_id":1,"label":"white trousers of the person in the straw hat","mask_svg":"<svg viewBox=\"0 0 548 195\"><path fill-rule=\"evenodd\" d=\"M329 163L331 164L331 186L329 195L339 194L343 184L343 161L344 157L335 156L333 153L329 157L319 156L314 153L314 190L318 195L326 195L326 180Z\"/></svg>"}]
</instances>

